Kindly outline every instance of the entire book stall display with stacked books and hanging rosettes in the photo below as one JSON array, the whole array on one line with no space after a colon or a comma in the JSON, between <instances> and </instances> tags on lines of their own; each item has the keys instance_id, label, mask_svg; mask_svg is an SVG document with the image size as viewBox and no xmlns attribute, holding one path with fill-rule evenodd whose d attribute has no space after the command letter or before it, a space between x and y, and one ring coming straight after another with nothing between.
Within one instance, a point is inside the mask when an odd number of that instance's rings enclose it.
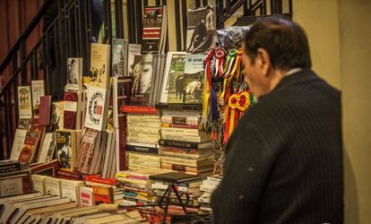
<instances>
[{"instance_id":1,"label":"entire book stall display with stacked books and hanging rosettes","mask_svg":"<svg viewBox=\"0 0 371 224\"><path fill-rule=\"evenodd\" d=\"M170 183L168 215L211 212L224 146L254 97L242 50L215 47L215 7L188 10L185 52L165 54L167 20L166 6L145 7L142 45L92 43L84 76L85 59L68 58L64 100L42 80L18 87L11 160L0 161L2 223L160 221L145 205ZM97 207L115 202L139 207Z\"/></svg>"}]
</instances>

